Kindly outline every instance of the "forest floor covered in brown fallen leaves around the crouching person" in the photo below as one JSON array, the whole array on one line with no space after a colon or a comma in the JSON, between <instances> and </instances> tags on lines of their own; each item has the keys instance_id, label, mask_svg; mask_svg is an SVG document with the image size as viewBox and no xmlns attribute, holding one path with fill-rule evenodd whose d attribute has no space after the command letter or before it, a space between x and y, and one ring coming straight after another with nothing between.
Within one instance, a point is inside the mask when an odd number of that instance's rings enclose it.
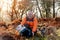
<instances>
[{"instance_id":1,"label":"forest floor covered in brown fallen leaves around the crouching person","mask_svg":"<svg viewBox=\"0 0 60 40\"><path fill-rule=\"evenodd\" d=\"M43 19L42 19L43 20ZM50 20L50 19L49 19ZM20 23L20 21L19 21ZM19 24L18 21L13 21L11 24L4 25L5 23L0 23L0 40L3 40L4 36L11 36L11 40L60 40L60 21L55 20L45 20L41 21L38 24L38 31L35 36L31 38L25 38L19 35L19 33L15 30L17 25ZM2 26L1 26L2 25ZM41 29L46 28L46 32L44 36L41 34Z\"/></svg>"}]
</instances>

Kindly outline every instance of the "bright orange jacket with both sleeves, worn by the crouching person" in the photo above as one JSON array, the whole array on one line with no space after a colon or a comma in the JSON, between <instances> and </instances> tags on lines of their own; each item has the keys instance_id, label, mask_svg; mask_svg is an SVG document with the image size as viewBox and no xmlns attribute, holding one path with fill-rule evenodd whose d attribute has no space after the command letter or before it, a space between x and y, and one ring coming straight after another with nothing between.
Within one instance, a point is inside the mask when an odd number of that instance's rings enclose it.
<instances>
[{"instance_id":1,"label":"bright orange jacket with both sleeves, worn by the crouching person","mask_svg":"<svg viewBox=\"0 0 60 40\"><path fill-rule=\"evenodd\" d=\"M26 17L23 18L22 22L21 22L21 25L24 25L25 23L27 23L28 25L30 25L30 28L32 29L32 32L36 32L36 30L37 30L37 24L38 24L38 21L37 21L36 17L33 19L32 22L26 21Z\"/></svg>"}]
</instances>

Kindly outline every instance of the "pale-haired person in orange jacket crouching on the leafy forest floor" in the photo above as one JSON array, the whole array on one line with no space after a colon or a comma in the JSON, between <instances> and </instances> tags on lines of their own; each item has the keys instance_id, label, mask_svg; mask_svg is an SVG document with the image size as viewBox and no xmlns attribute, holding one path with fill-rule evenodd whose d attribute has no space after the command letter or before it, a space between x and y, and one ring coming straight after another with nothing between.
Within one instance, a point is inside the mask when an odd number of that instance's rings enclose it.
<instances>
[{"instance_id":1,"label":"pale-haired person in orange jacket crouching on the leafy forest floor","mask_svg":"<svg viewBox=\"0 0 60 40\"><path fill-rule=\"evenodd\" d=\"M28 11L26 17L22 19L21 25L18 26L20 34L26 37L32 37L37 31L37 18L32 11Z\"/></svg>"}]
</instances>

